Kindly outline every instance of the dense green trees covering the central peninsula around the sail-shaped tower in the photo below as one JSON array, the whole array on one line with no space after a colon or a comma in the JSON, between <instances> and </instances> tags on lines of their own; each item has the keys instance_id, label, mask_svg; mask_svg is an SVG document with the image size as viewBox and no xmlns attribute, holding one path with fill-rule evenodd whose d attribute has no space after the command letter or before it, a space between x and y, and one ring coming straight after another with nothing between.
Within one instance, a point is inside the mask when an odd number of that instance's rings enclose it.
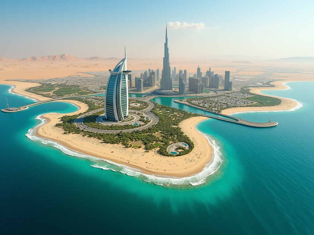
<instances>
[{"instance_id":1,"label":"dense green trees covering the central peninsula around the sail-shaped tower","mask_svg":"<svg viewBox=\"0 0 314 235\"><path fill-rule=\"evenodd\" d=\"M77 99L77 98L74 98ZM94 107L95 108L95 107ZM94 109L95 110L95 109ZM177 142L185 142L187 143L190 148L184 149L179 154L176 155L184 155L190 153L193 148L194 144L192 140L187 137L182 131L181 128L178 127L179 123L187 118L196 117L198 114L193 114L184 110L179 110L176 108L164 106L155 103L155 107L152 109L159 117L159 122L156 125L153 125L150 128L144 130L136 130L132 132L120 132L115 134L108 134L108 133L94 133L94 132L87 132L81 131L74 125L74 120L78 118L81 114L72 115L72 116L63 116L61 118L62 123L57 123L56 126L62 127L64 129L64 133L81 133L87 135L89 137L98 138L102 140L104 143L110 144L123 144L126 147L132 147L131 142L134 141L142 141L145 144L146 150L158 149L160 154L165 156L175 156L169 154L167 151L168 146L170 143L177 143ZM99 114L95 113L95 116L90 115L88 122L95 123L95 117ZM84 118L85 119L85 118ZM143 120L147 121L147 120ZM84 122L86 125L86 122ZM100 125L100 124L98 124ZM124 125L126 126L126 125ZM138 126L135 126L138 127ZM162 139L153 135L153 133L161 133ZM133 146L137 147L137 146ZM138 146L141 148L142 146Z\"/></svg>"}]
</instances>

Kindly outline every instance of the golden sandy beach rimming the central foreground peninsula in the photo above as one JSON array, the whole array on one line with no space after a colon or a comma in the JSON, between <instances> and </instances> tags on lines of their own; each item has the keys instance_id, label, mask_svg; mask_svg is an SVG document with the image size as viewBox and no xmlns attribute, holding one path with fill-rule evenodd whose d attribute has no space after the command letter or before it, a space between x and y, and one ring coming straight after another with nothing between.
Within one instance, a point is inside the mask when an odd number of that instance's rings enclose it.
<instances>
[{"instance_id":1,"label":"golden sandy beach rimming the central foreground peninsula","mask_svg":"<svg viewBox=\"0 0 314 235\"><path fill-rule=\"evenodd\" d=\"M71 101L72 102L72 101ZM80 110L71 115L87 110L84 103L72 102L80 107ZM207 119L194 117L180 123L182 131L194 142L195 148L190 154L178 157L166 157L156 153L154 150L146 152L143 148L125 148L121 144L106 144L101 140L82 136L80 134L63 134L62 128L55 126L60 122L64 114L48 113L42 117L48 123L40 126L36 134L40 137L49 138L63 146L81 152L83 154L107 159L118 164L127 165L143 171L145 174L168 175L168 176L190 176L203 170L212 158L212 147L208 140L196 131L194 126Z\"/></svg>"}]
</instances>

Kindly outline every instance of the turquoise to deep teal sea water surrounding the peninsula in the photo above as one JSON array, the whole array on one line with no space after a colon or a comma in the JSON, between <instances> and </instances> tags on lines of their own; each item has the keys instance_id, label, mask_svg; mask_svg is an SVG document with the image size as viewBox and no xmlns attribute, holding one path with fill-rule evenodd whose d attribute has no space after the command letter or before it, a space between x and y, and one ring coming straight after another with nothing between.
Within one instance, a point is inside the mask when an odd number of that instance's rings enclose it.
<instances>
[{"instance_id":1,"label":"turquoise to deep teal sea water surrounding the peninsula","mask_svg":"<svg viewBox=\"0 0 314 235\"><path fill-rule=\"evenodd\" d=\"M1 112L0 233L313 234L314 82L289 86L267 93L296 99L300 109L234 115L263 122L271 117L276 127L214 119L198 124L217 146L220 167L197 186L160 186L91 167L95 162L25 136L39 123L37 115L75 111L69 103ZM6 95L12 107L32 103L8 94L8 87L0 85L1 107ZM162 104L181 105L163 98Z\"/></svg>"}]
</instances>

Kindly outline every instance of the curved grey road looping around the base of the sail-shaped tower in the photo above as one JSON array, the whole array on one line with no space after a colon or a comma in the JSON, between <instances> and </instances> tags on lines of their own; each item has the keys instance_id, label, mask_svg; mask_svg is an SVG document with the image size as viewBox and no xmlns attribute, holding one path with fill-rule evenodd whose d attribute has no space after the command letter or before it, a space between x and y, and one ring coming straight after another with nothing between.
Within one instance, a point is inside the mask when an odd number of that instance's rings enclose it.
<instances>
[{"instance_id":1,"label":"curved grey road looping around the base of the sail-shaped tower","mask_svg":"<svg viewBox=\"0 0 314 235\"><path fill-rule=\"evenodd\" d=\"M89 132L95 132L95 133L118 133L118 132L121 132L121 131L122 132L132 132L132 131L147 129L147 128L155 125L159 121L159 118L157 117L157 115L150 111L150 110L152 110L154 108L154 103L149 101L149 99L151 99L151 97L145 99L145 101L148 102L149 106L147 108L145 108L144 110L131 110L131 109L129 110L129 112L138 112L138 113L143 113L143 114L148 115L150 117L151 121L150 121L150 123L148 123L145 126L141 126L141 127L137 127L137 128L133 128L133 129L127 129L127 130L100 130L100 129L95 129L95 128L88 127L88 126L86 126L83 123L83 119L86 116L91 115L91 114L93 114L95 112L102 111L103 108L96 109L94 111L84 113L83 115L79 116L77 119L74 120L74 124L78 128L80 128L81 130L85 130L85 131L89 131ZM137 99L136 98L132 98L132 100L137 100ZM143 99L138 99L138 100L142 100L143 101Z\"/></svg>"}]
</instances>

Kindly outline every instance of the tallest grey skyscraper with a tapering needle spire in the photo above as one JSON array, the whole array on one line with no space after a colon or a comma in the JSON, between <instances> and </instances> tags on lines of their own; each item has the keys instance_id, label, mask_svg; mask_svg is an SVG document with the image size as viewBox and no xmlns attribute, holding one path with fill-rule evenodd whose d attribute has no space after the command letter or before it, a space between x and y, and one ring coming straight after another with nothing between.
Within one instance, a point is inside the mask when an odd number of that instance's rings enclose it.
<instances>
[{"instance_id":1,"label":"tallest grey skyscraper with a tapering needle spire","mask_svg":"<svg viewBox=\"0 0 314 235\"><path fill-rule=\"evenodd\" d=\"M160 81L160 90L167 91L172 90L172 81L170 74L170 62L169 62L169 48L168 48L168 37L167 37L167 26L166 26L166 41L165 41L165 56L163 60L163 69Z\"/></svg>"}]
</instances>

